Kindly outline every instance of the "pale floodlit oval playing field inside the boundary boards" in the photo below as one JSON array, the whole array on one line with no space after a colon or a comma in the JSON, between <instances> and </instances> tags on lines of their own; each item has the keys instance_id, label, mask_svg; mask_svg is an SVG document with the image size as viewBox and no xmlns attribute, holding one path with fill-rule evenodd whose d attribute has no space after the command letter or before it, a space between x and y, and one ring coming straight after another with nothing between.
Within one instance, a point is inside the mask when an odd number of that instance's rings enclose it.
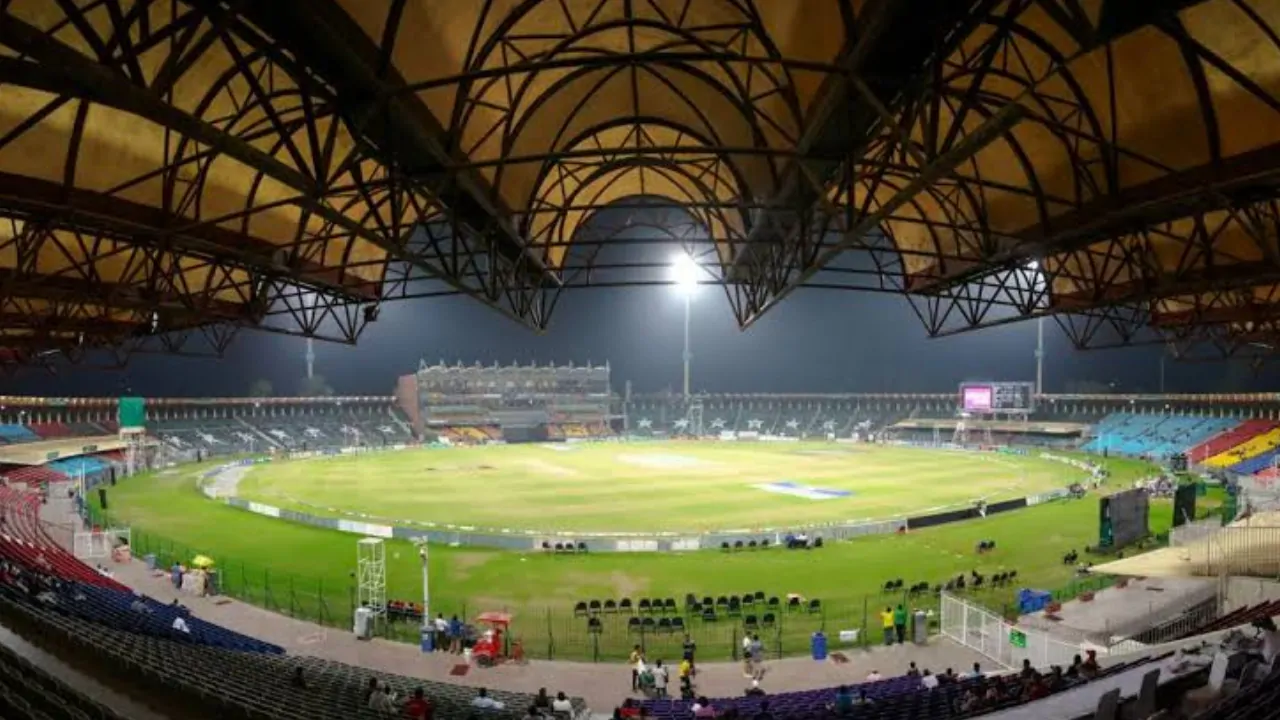
<instances>
[{"instance_id":1,"label":"pale floodlit oval playing field inside the boundary boards","mask_svg":"<svg viewBox=\"0 0 1280 720\"><path fill-rule=\"evenodd\" d=\"M1064 487L1085 473L1032 456L833 443L508 445L253 468L239 495L388 521L653 532L884 519ZM847 492L815 501L778 482Z\"/></svg>"}]
</instances>

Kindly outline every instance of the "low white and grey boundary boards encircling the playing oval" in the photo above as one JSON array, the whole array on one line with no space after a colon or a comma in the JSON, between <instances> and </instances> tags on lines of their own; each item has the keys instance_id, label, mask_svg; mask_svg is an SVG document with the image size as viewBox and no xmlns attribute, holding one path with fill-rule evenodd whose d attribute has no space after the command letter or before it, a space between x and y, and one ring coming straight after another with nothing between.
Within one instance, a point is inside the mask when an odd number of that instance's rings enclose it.
<instances>
[{"instance_id":1,"label":"low white and grey boundary boards encircling the playing oval","mask_svg":"<svg viewBox=\"0 0 1280 720\"><path fill-rule=\"evenodd\" d=\"M385 450L371 450L367 447L360 447L360 448L330 450L323 452L301 452L301 454L294 454L292 459L306 460L326 455L351 455L357 452L358 454L390 452L396 450L404 450L406 447L407 446L390 446ZM964 451L963 448L955 448L955 450ZM1004 451L1007 452L1007 448L1005 448ZM1078 468L1087 466L1079 460L1057 456L1048 452L1039 454L1039 457L1060 461ZM270 461L271 459L269 457L243 459L236 462L229 462L214 468L206 471L204 477L205 479L212 479L216 475L221 474L223 471L233 468L252 465L257 462L270 462ZM394 538L404 541L416 541L425 538L428 542L438 544L492 547L498 550L513 550L521 552L554 551L557 543L561 546L570 543L571 546L575 547L579 543L582 543L585 544L588 552L685 552L695 550L717 550L717 548L723 550L726 547L728 548L762 547L764 542L767 542L768 546L777 547L783 543L787 534L800 533L800 532L809 533L814 537L822 537L824 541L840 541L840 539L851 539L856 537L874 536L874 534L904 533L911 529L931 528L931 527L943 525L947 523L959 523L963 520L970 520L974 518L987 516L996 512L1009 512L1032 505L1039 505L1042 502L1050 502L1052 500L1065 498L1069 497L1070 495L1070 492L1066 488L1060 488L1034 496L992 502L983 507L978 507L975 505L959 509L948 507L948 509L940 509L937 512L927 515L918 515L911 518L892 518L886 520L872 520L864 523L795 525L786 528L764 528L756 530L724 529L724 530L713 530L705 533L571 533L571 532L545 533L545 532L535 532L535 530L525 530L515 528L477 529L471 527L457 527L457 525L447 525L438 523L416 523L412 525L384 525L379 523L369 523L357 519L311 515L303 511L288 510L283 507L275 507L271 505L264 505L260 502L252 502L241 497L219 497L216 489L211 484L205 484L202 487L202 491L211 500L225 502L232 507L247 510L250 512L256 512L259 515L265 515L269 518L276 518L292 523L301 523L315 528L339 530L344 533L352 533L367 537Z\"/></svg>"}]
</instances>

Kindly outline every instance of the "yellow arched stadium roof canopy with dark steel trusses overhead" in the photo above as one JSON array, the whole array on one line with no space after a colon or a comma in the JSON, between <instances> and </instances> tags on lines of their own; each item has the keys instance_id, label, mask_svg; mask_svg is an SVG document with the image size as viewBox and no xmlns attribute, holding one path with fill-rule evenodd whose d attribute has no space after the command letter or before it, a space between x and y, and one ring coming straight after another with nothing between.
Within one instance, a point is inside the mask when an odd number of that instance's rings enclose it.
<instances>
[{"instance_id":1,"label":"yellow arched stadium roof canopy with dark steel trusses overhead","mask_svg":"<svg viewBox=\"0 0 1280 720\"><path fill-rule=\"evenodd\" d=\"M1266 351L1277 176L1266 0L18 0L0 365L541 328L677 250L744 327L808 286Z\"/></svg>"}]
</instances>

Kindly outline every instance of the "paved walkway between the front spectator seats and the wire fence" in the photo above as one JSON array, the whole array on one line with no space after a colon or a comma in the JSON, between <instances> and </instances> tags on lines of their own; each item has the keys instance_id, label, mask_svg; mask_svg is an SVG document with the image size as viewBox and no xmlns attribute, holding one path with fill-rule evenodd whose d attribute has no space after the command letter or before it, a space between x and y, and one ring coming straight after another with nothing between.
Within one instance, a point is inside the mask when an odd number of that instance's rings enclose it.
<instances>
[{"instance_id":1,"label":"paved walkway between the front spectator seats and the wire fence","mask_svg":"<svg viewBox=\"0 0 1280 720\"><path fill-rule=\"evenodd\" d=\"M72 502L61 487L50 491L49 505L41 516L58 527L51 534L68 546L70 528L77 521ZM294 620L227 597L198 598L178 593L164 573L147 571L134 560L113 565L111 571L122 583L156 600L178 598L193 614L233 630L279 644L291 653L310 655L365 667L426 678L471 687L494 687L515 692L536 692L548 688L586 700L598 712L607 712L626 697L631 687L630 669L617 664L591 664L532 660L526 665L503 665L493 669L471 669L463 676L449 675L460 659L445 653L424 655L417 647L383 639L358 641L352 633ZM767 665L762 685L768 692L827 688L865 679L872 670L886 676L899 675L914 661L934 673L954 667L957 673L974 662L989 664L986 657L945 638L927 646L877 647L865 651L841 651L849 662L814 662L810 659L774 660ZM675 661L676 659L667 659ZM707 662L699 665L698 692L708 697L741 694L748 684L740 664Z\"/></svg>"}]
</instances>

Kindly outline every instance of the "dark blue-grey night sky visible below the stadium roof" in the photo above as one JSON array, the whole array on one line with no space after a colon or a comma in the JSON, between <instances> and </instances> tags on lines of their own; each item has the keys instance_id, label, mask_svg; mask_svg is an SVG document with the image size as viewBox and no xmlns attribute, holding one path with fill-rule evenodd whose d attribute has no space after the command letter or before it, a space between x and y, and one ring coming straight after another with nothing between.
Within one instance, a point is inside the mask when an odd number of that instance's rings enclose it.
<instances>
[{"instance_id":1,"label":"dark blue-grey night sky visible below the stadium roof","mask_svg":"<svg viewBox=\"0 0 1280 720\"><path fill-rule=\"evenodd\" d=\"M550 329L538 336L470 299L406 301L383 307L356 347L316 343L316 372L339 395L387 395L420 357L456 363L603 363L614 388L678 388L684 301L673 288L586 290L566 295ZM695 391L950 392L966 379L1034 379L1036 324L1020 323L928 340L896 296L820 290L792 293L746 332L723 291L699 290L692 311ZM1078 352L1046 325L1046 389L1156 392L1160 348ZM236 396L265 378L275 395L301 391L306 342L242 333L223 360L140 356L124 372L28 370L0 380L0 392ZM1169 360L1169 392L1233 392L1277 387L1276 373L1243 363ZM1080 383L1096 383L1082 386Z\"/></svg>"}]
</instances>

